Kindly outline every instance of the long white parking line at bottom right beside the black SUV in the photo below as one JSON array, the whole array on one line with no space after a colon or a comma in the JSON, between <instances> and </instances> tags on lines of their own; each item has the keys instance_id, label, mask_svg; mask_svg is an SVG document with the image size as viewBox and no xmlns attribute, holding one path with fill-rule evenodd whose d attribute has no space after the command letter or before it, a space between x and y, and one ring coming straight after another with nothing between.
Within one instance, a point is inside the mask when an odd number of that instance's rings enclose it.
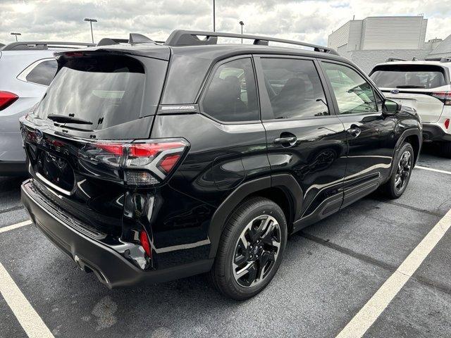
<instances>
[{"instance_id":1,"label":"long white parking line at bottom right beside the black SUV","mask_svg":"<svg viewBox=\"0 0 451 338\"><path fill-rule=\"evenodd\" d=\"M337 338L362 337L451 227L451 210L432 228L399 268L352 318Z\"/></svg>"}]
</instances>

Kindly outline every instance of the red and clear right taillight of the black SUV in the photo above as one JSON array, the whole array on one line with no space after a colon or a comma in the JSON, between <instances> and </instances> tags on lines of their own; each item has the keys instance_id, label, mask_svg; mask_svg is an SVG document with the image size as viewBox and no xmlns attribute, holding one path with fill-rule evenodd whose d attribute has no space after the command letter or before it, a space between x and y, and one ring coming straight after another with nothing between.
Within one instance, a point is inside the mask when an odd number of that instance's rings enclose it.
<instances>
[{"instance_id":1,"label":"red and clear right taillight of the black SUV","mask_svg":"<svg viewBox=\"0 0 451 338\"><path fill-rule=\"evenodd\" d=\"M85 153L96 161L123 169L125 182L140 187L163 182L180 162L187 146L183 139L96 142L87 144Z\"/></svg>"}]
</instances>

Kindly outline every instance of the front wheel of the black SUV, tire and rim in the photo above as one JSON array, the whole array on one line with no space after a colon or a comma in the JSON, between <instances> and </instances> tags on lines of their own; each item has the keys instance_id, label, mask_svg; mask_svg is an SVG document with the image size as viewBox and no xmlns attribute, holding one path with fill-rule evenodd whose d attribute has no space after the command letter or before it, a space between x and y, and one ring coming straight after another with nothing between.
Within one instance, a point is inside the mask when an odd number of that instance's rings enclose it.
<instances>
[{"instance_id":1,"label":"front wheel of the black SUV, tire and rim","mask_svg":"<svg viewBox=\"0 0 451 338\"><path fill-rule=\"evenodd\" d=\"M409 153L409 163L407 163L409 167L408 171L407 166L402 164L406 159L405 157L403 158L403 156L407 156L407 153ZM385 195L385 197L388 197L389 199L398 199L400 198L400 196L402 196L405 189L407 188L410 180L410 175L412 175L412 169L414 168L414 149L412 148L411 144L407 142L404 142L404 144L402 144L400 151L397 152L394 158L393 165L395 165L395 169L393 170L393 173L390 176L388 182L381 186L381 192ZM400 171L400 169L402 170ZM400 178L402 179L402 186L400 186Z\"/></svg>"}]
</instances>

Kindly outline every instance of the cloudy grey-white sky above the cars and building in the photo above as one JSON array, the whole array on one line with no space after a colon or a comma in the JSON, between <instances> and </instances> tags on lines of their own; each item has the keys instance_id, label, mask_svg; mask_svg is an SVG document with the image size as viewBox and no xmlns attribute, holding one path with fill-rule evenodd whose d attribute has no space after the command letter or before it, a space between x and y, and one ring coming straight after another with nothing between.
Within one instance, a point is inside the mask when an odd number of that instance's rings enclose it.
<instances>
[{"instance_id":1,"label":"cloudy grey-white sky above the cars and building","mask_svg":"<svg viewBox=\"0 0 451 338\"><path fill-rule=\"evenodd\" d=\"M213 0L0 0L0 42L23 40L89 42L89 23L97 18L94 40L127 38L140 32L164 40L175 28L212 30ZM419 15L428 19L426 39L451 34L451 0L216 0L216 30L301 39L327 44L327 37L347 20L375 15Z\"/></svg>"}]
</instances>

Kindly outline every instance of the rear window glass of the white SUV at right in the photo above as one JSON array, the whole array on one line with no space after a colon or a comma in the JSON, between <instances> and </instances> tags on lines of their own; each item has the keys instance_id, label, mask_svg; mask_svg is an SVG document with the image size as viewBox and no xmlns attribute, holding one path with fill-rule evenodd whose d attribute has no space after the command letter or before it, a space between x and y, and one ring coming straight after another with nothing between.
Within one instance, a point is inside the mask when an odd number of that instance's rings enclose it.
<instances>
[{"instance_id":1,"label":"rear window glass of the white SUV at right","mask_svg":"<svg viewBox=\"0 0 451 338\"><path fill-rule=\"evenodd\" d=\"M379 65L371 79L381 88L436 88L444 86L445 72L435 65Z\"/></svg>"}]
</instances>

